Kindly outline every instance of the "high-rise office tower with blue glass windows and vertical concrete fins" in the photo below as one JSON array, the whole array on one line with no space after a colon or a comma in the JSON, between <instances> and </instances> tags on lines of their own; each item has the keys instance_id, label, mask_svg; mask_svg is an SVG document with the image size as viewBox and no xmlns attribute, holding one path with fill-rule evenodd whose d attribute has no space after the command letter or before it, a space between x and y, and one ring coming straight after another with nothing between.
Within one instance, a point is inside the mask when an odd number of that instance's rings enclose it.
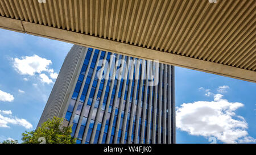
<instances>
[{"instance_id":1,"label":"high-rise office tower with blue glass windows and vertical concrete fins","mask_svg":"<svg viewBox=\"0 0 256 155\"><path fill-rule=\"evenodd\" d=\"M38 127L53 116L77 143L175 143L174 66L73 45Z\"/></svg>"}]
</instances>

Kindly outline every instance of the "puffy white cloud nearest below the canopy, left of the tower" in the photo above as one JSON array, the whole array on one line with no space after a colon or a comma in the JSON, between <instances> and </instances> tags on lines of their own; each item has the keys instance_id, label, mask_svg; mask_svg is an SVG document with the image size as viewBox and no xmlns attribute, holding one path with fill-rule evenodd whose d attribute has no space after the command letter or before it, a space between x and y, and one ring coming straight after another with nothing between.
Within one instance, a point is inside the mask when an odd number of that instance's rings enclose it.
<instances>
[{"instance_id":1,"label":"puffy white cloud nearest below the canopy, left of the tower","mask_svg":"<svg viewBox=\"0 0 256 155\"><path fill-rule=\"evenodd\" d=\"M34 76L35 73L43 71L50 72L49 65L52 64L51 60L39 57L37 55L14 58L14 68L20 74L28 74Z\"/></svg>"}]
</instances>

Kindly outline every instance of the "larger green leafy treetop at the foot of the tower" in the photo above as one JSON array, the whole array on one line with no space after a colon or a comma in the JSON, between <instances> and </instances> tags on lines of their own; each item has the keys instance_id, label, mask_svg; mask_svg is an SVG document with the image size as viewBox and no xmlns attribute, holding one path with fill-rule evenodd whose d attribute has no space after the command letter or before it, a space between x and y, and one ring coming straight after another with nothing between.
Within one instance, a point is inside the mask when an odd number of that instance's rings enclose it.
<instances>
[{"instance_id":1,"label":"larger green leafy treetop at the foot of the tower","mask_svg":"<svg viewBox=\"0 0 256 155\"><path fill-rule=\"evenodd\" d=\"M54 117L48 119L35 131L22 133L25 144L75 144L76 139L71 137L72 128L62 126L63 119Z\"/></svg>"}]
</instances>

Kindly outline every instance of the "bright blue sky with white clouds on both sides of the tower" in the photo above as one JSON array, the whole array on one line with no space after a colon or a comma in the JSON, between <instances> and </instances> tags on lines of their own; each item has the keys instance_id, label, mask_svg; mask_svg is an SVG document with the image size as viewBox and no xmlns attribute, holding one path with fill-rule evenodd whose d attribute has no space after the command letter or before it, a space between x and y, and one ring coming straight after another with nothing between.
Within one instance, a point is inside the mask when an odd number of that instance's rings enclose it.
<instances>
[{"instance_id":1,"label":"bright blue sky with white clouds on both sides of the tower","mask_svg":"<svg viewBox=\"0 0 256 155\"><path fill-rule=\"evenodd\" d=\"M21 142L72 44L2 29L0 36L0 141ZM255 83L176 67L175 85L177 143L256 143Z\"/></svg>"}]
</instances>

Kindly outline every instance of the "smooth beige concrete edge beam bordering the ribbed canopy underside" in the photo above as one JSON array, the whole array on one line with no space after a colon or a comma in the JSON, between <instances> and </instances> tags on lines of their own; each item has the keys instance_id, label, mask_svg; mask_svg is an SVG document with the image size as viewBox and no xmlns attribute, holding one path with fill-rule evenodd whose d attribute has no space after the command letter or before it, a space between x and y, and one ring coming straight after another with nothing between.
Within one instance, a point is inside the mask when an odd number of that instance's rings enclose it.
<instances>
[{"instance_id":1,"label":"smooth beige concrete edge beam bordering the ribbed canopy underside","mask_svg":"<svg viewBox=\"0 0 256 155\"><path fill-rule=\"evenodd\" d=\"M84 35L81 33L61 30L59 28L43 26L40 24L25 21L20 22L20 20L16 19L9 19L4 17L1 17L0 19L0 27L6 28L8 30L23 33L26 32L35 36L42 36L49 39L65 41L67 43L97 48L103 51L110 51L121 55L150 60L159 60L159 62L164 64L181 66L183 68L199 70L202 72L218 74L221 76L242 79L250 82L256 82L256 72L251 70L217 64L215 62L199 60L181 55L175 55L168 52L156 51L154 49L138 47L135 45L120 43L118 41L102 39L100 37ZM7 20L10 21L7 22Z\"/></svg>"}]
</instances>

